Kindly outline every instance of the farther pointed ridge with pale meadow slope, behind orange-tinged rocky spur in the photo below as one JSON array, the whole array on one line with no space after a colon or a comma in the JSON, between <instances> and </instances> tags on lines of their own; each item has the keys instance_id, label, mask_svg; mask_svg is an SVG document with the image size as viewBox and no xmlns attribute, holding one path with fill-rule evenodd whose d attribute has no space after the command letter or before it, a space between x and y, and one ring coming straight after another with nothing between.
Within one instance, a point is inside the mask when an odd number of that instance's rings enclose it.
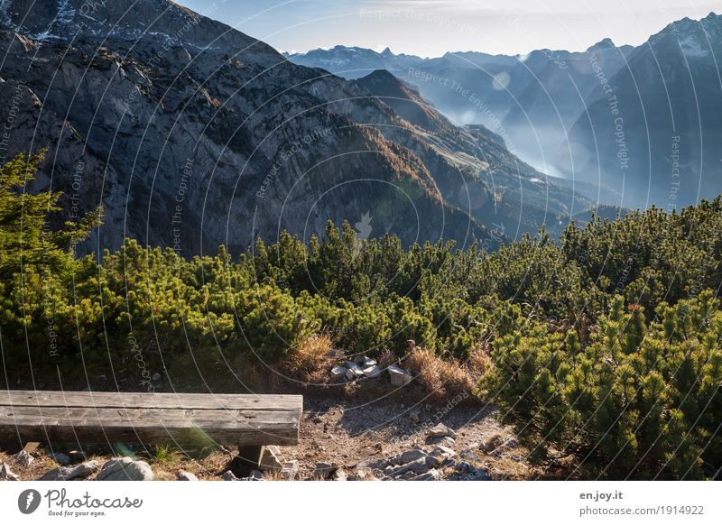
<instances>
[{"instance_id":1,"label":"farther pointed ridge with pale meadow slope, behind orange-tinged rocky spur","mask_svg":"<svg viewBox=\"0 0 722 525\"><path fill-rule=\"evenodd\" d=\"M458 167L458 171L441 166L431 171L447 202L467 210L481 224L513 237L520 232L533 233L541 224L559 232L570 214L590 206L567 181L545 177L520 161L505 147L501 136L480 124L452 124L415 89L388 71L374 71L356 84L418 126L425 144L421 149L412 148L412 152L424 158L424 150L430 148ZM459 177L459 171L465 176Z\"/></svg>"}]
</instances>

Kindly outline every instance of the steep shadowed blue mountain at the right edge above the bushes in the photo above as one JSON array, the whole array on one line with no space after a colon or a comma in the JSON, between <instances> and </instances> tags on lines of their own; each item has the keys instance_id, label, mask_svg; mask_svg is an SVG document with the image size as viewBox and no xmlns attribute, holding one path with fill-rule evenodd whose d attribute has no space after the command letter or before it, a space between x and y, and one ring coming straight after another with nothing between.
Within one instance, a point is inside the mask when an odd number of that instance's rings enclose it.
<instances>
[{"instance_id":1,"label":"steep shadowed blue mountain at the right edge above the bushes","mask_svg":"<svg viewBox=\"0 0 722 525\"><path fill-rule=\"evenodd\" d=\"M720 58L717 14L653 35L607 76L606 92L600 85L587 97L564 169L616 189L627 207L680 207L722 192Z\"/></svg>"}]
</instances>

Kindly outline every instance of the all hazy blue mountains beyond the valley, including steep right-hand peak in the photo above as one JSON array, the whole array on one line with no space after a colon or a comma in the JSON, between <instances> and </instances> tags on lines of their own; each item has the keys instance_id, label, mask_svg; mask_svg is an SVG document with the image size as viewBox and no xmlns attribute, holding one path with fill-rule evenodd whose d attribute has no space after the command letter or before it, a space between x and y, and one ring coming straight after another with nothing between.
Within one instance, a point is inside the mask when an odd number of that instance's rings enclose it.
<instances>
[{"instance_id":1,"label":"all hazy blue mountains beyond the valley, including steep right-hand peak","mask_svg":"<svg viewBox=\"0 0 722 525\"><path fill-rule=\"evenodd\" d=\"M337 46L287 55L358 78L388 69L458 124L483 124L537 170L617 207L679 208L722 192L722 17L643 44L422 59Z\"/></svg>"}]
</instances>

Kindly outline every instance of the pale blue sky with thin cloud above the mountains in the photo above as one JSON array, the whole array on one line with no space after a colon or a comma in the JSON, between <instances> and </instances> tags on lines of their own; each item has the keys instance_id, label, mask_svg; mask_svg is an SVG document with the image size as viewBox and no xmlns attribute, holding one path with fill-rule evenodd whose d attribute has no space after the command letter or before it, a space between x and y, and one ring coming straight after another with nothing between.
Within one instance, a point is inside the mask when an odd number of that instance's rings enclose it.
<instances>
[{"instance_id":1,"label":"pale blue sky with thin cloud above the mountains","mask_svg":"<svg viewBox=\"0 0 722 525\"><path fill-rule=\"evenodd\" d=\"M177 0L280 51L337 44L421 56L446 51L579 51L611 37L638 45L707 0Z\"/></svg>"}]
</instances>

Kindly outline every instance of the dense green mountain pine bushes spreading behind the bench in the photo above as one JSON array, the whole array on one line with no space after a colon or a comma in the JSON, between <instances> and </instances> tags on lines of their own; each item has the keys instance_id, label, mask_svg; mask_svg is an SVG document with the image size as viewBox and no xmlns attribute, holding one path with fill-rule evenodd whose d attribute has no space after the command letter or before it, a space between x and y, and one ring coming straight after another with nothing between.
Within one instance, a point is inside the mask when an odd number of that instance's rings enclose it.
<instances>
[{"instance_id":1,"label":"dense green mountain pine bushes spreading behind the bench","mask_svg":"<svg viewBox=\"0 0 722 525\"><path fill-rule=\"evenodd\" d=\"M237 389L256 370L316 381L329 348L391 363L418 347L433 392L484 373L478 394L539 460L613 478L719 473L720 198L494 253L329 223L307 244L282 233L186 259L127 239L96 259L74 248L102 210L64 222L60 194L26 191L40 161L0 167L5 387L106 376L144 390L163 372L174 388Z\"/></svg>"}]
</instances>

